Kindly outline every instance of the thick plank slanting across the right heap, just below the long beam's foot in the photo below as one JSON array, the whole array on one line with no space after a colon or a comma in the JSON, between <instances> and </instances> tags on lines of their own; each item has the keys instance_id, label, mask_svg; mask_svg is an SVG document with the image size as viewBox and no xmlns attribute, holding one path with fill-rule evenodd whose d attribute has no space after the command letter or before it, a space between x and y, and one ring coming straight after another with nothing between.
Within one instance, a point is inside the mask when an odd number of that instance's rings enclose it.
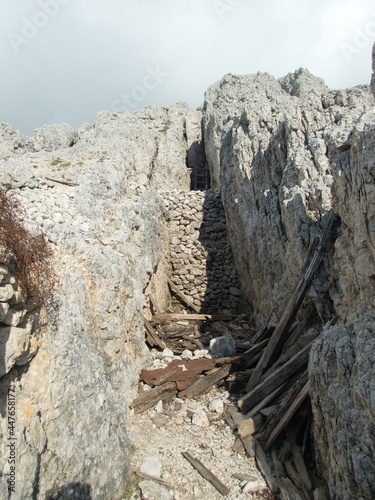
<instances>
[{"instance_id":1,"label":"thick plank slanting across the right heap, just below the long beam's foot","mask_svg":"<svg viewBox=\"0 0 375 500\"><path fill-rule=\"evenodd\" d=\"M312 342L304 347L299 353L293 356L287 363L280 366L269 377L261 382L257 387L250 391L246 396L238 400L238 406L243 412L249 411L257 405L272 390L284 383L290 376L300 370L307 364Z\"/></svg>"}]
</instances>

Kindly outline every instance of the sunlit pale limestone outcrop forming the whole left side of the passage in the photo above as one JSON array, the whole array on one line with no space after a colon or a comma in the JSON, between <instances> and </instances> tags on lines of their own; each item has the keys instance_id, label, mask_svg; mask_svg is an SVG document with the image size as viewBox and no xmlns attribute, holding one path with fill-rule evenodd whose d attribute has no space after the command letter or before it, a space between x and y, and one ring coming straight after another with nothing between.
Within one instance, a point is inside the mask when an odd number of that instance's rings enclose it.
<instances>
[{"instance_id":1,"label":"sunlit pale limestone outcrop forming the whole left side of the passage","mask_svg":"<svg viewBox=\"0 0 375 500\"><path fill-rule=\"evenodd\" d=\"M155 188L189 188L186 159L191 145L199 150L201 114L183 104L103 112L77 134L42 127L24 140L22 155L15 148L21 135L2 130L0 183L20 200L29 230L44 231L59 277L47 325L26 331L20 322L20 331L9 332L2 325L9 334L0 343L6 437L9 388L16 397L13 497L70 491L123 498L128 405L148 356L144 290L164 259L164 209ZM5 474L6 440L0 446ZM0 498L7 498L6 478Z\"/></svg>"}]
</instances>

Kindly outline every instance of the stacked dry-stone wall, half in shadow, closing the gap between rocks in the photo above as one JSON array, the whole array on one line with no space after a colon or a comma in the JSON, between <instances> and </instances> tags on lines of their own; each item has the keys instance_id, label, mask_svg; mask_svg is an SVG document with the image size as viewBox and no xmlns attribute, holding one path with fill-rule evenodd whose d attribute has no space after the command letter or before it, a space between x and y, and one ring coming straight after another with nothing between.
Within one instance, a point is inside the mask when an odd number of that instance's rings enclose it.
<instances>
[{"instance_id":1,"label":"stacked dry-stone wall, half in shadow, closing the gap between rocks","mask_svg":"<svg viewBox=\"0 0 375 500\"><path fill-rule=\"evenodd\" d=\"M173 283L204 312L237 311L240 291L220 193L160 193Z\"/></svg>"}]
</instances>

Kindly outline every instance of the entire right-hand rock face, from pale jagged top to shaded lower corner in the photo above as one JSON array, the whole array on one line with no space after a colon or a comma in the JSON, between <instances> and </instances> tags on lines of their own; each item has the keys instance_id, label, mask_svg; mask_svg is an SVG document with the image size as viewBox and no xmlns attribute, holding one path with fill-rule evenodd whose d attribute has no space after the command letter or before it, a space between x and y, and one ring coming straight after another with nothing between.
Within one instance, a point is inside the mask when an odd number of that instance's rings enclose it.
<instances>
[{"instance_id":1,"label":"entire right-hand rock face, from pale jagged top to shaded lower corner","mask_svg":"<svg viewBox=\"0 0 375 500\"><path fill-rule=\"evenodd\" d=\"M207 161L256 317L281 317L322 215L339 217L310 292L322 324L338 316L310 364L316 450L333 498L374 495L373 105L368 87L329 91L304 70L279 81L227 75L204 104Z\"/></svg>"}]
</instances>

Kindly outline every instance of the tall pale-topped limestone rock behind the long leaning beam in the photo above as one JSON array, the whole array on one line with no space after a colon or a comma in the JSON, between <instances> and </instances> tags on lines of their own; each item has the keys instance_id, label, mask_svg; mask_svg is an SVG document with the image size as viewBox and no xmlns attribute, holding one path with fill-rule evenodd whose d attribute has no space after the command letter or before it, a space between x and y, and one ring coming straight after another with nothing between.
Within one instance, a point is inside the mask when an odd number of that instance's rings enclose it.
<instances>
[{"instance_id":1,"label":"tall pale-topped limestone rock behind the long leaning beam","mask_svg":"<svg viewBox=\"0 0 375 500\"><path fill-rule=\"evenodd\" d=\"M227 75L205 96L213 185L222 192L243 296L262 318L272 309L280 317L307 247L321 233L321 216L340 198L336 184L346 179L340 161L350 154L356 161L348 142L353 127L373 104L366 87L321 95L320 79L316 93L309 91L312 76L306 92L305 80L298 98L267 74ZM326 272L315 287L321 294L330 286Z\"/></svg>"}]
</instances>

